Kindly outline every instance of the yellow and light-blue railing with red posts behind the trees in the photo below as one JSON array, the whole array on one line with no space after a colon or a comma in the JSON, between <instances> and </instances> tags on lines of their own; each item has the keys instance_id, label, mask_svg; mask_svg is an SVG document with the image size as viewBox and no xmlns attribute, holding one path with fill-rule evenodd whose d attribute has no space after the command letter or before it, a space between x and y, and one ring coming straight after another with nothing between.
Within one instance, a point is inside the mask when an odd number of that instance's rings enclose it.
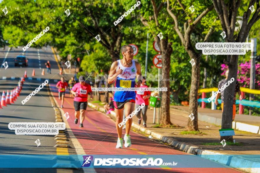
<instances>
[{"instance_id":1,"label":"yellow and light-blue railing with red posts behind the trees","mask_svg":"<svg viewBox=\"0 0 260 173\"><path fill-rule=\"evenodd\" d=\"M243 88L240 87L241 90L241 95L244 97L245 93L249 93L249 94L260 94L260 90L253 90L253 89L249 89L249 88ZM202 93L202 98L198 98L198 102L201 102L201 107L205 108L206 107L206 103L208 102L208 98L206 98L206 93L212 93L212 95L217 91L217 88L203 88L203 89L199 89L198 93ZM217 100L218 103L221 103L221 99ZM216 105L215 105L215 98L211 101L211 109L215 110L216 109ZM244 113L244 106L251 106L251 107L257 107L260 108L260 102L259 101L250 101L250 100L236 100L236 104L239 104L239 114L243 114Z\"/></svg>"}]
</instances>

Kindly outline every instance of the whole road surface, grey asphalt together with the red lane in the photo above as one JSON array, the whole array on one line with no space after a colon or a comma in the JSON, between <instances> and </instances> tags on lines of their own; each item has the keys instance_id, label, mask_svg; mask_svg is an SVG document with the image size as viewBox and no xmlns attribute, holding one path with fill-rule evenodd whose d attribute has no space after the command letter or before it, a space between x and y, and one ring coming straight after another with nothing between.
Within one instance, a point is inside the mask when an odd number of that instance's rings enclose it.
<instances>
[{"instance_id":1,"label":"whole road surface, grey asphalt together with the red lane","mask_svg":"<svg viewBox=\"0 0 260 173\"><path fill-rule=\"evenodd\" d=\"M32 70L35 69L36 77L47 79L59 79L61 75L58 75L58 65L54 59L53 53L48 48L37 49L29 48L25 52L25 56L28 57L28 67L14 67L14 58L17 55L21 55L22 47L18 49L12 49L8 52L8 56L5 59L8 48L0 51L0 62L8 62L9 67L4 70L0 68L0 92L3 90L13 89L17 85L17 80L1 80L3 77L22 77L25 70L27 76L31 77ZM38 55L39 52L39 55ZM39 60L40 59L40 60ZM52 74L45 76L40 75L42 69L45 68L44 62L49 60L51 62ZM70 77L69 75L65 75ZM55 122L55 113L51 106L49 95L46 87L41 89L36 95L32 96L27 103L22 105L21 101L25 99L27 95L32 93L35 88L40 85L39 82L24 83L22 92L16 100L15 104L8 105L0 109L0 156L3 154L19 154L22 159L25 154L48 154L55 156L58 154L58 150L53 147L55 145L54 135L16 135L14 130L8 128L10 122ZM58 105L58 93L55 89L55 83L50 84L52 93ZM158 141L151 140L141 134L131 131L132 146L124 149L116 149L116 127L114 121L103 113L95 111L91 108L87 108L86 119L84 121L84 128L79 128L79 123L74 123L74 106L73 99L66 94L64 101L64 108L60 108L61 113L68 112L70 118L66 122L66 128L69 131L71 138L72 149L69 149L69 154L126 154L126 155L161 155L161 154L186 154L185 152L178 151L164 144L160 144ZM123 132L124 134L124 132ZM35 141L40 139L41 145L36 146ZM14 161L15 162L15 161ZM211 161L207 161L210 164L216 164ZM35 163L38 164L38 163ZM186 164L186 163L183 163ZM188 164L188 163L187 163ZM0 172L238 172L235 169L230 168L95 168L95 169L0 169Z\"/></svg>"}]
</instances>

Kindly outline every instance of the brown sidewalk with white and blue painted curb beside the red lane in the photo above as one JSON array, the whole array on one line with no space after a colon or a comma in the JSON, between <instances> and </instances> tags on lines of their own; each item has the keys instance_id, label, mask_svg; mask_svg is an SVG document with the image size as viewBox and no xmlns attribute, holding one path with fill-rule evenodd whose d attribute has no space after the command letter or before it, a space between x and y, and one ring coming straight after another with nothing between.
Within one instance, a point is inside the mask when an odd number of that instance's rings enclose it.
<instances>
[{"instance_id":1,"label":"brown sidewalk with white and blue painted curb beside the red lane","mask_svg":"<svg viewBox=\"0 0 260 173\"><path fill-rule=\"evenodd\" d=\"M103 95L101 100L104 100ZM104 108L100 103L91 102L92 101L89 100L88 106L99 111L104 111ZM202 134L180 134L182 131L186 131L188 123L189 107L184 106L171 106L170 120L175 125L171 128L153 127L156 124L152 123L153 109L150 108L147 110L147 128L143 128L142 123L141 126L137 124L138 118L136 116L133 117L132 127L136 128L138 131L144 132L147 136L151 135L153 138L157 138L162 142L168 143L169 145L176 147L181 151L185 151L190 154L196 154L206 159L211 159L233 167L239 167L237 162L239 160L240 163L246 165L246 168L238 168L239 170L244 172L260 172L260 135L235 130L235 136L233 136L233 139L235 139L235 143L238 143L242 146L226 145L223 147L220 143L220 126L216 123L213 124L201 120L203 118L205 120L206 118L209 118L207 121L213 121L214 118L217 120L216 118L221 118L219 116L221 111L215 110L214 113L209 113L209 111L212 110L200 108L198 108L198 110L198 125ZM111 112L111 118L115 119L114 111ZM243 115L237 116L235 121L240 118L243 119ZM239 125L238 123L242 122L235 122L234 124ZM257 123L257 121L254 123ZM219 143L219 145L211 145L210 143ZM223 156L220 158L219 155Z\"/></svg>"}]
</instances>

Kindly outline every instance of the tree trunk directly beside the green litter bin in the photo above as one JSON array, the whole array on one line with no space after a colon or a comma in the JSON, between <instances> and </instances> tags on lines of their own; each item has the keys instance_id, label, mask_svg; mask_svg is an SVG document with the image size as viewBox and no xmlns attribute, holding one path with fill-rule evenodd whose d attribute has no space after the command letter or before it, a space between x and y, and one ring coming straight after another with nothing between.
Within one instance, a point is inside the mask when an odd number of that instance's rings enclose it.
<instances>
[{"instance_id":1,"label":"tree trunk directly beside the green litter bin","mask_svg":"<svg viewBox=\"0 0 260 173\"><path fill-rule=\"evenodd\" d=\"M171 44L165 40L163 42L165 51L162 51L162 78L170 79L170 55L173 52ZM162 49L161 49L162 50ZM171 125L170 121L170 80L162 80L161 88L167 88L167 91L162 91L162 100L161 100L161 118L160 124Z\"/></svg>"}]
</instances>

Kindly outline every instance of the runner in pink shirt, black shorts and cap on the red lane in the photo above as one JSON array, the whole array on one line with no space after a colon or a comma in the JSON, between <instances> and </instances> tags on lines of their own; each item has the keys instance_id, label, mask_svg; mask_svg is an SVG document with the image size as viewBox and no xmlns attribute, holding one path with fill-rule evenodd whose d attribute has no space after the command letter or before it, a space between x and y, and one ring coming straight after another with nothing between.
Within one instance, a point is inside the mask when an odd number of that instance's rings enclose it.
<instances>
[{"instance_id":1,"label":"runner in pink shirt, black shorts and cap on the red lane","mask_svg":"<svg viewBox=\"0 0 260 173\"><path fill-rule=\"evenodd\" d=\"M79 77L79 83L76 83L71 89L74 94L74 108L75 108L75 124L78 123L80 117L79 127L83 127L85 119L85 111L87 109L87 94L90 93L90 98L93 99L92 89L89 84L85 83L85 77Z\"/></svg>"}]
</instances>

